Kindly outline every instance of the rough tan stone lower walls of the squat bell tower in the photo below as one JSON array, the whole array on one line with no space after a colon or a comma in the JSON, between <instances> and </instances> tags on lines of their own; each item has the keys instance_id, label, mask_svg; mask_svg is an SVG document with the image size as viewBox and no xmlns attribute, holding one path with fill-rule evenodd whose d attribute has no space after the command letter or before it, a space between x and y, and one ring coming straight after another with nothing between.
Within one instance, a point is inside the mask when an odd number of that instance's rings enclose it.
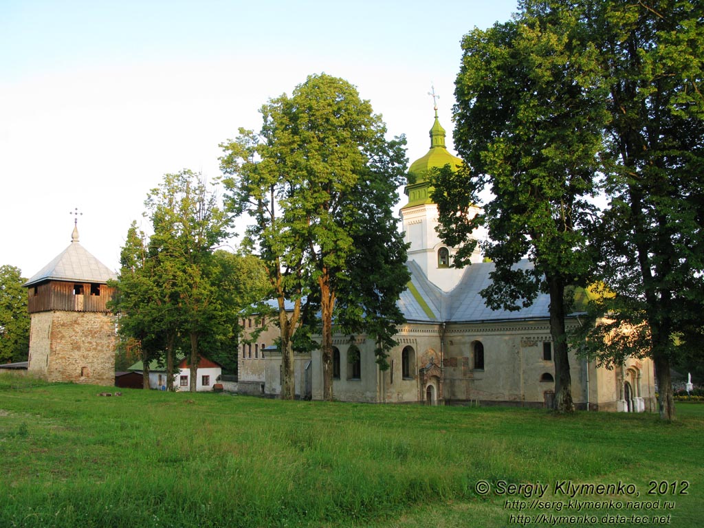
<instances>
[{"instance_id":1,"label":"rough tan stone lower walls of the squat bell tower","mask_svg":"<svg viewBox=\"0 0 704 528\"><path fill-rule=\"evenodd\" d=\"M115 344L113 315L35 313L30 331L29 370L49 382L111 386L115 384Z\"/></svg>"}]
</instances>

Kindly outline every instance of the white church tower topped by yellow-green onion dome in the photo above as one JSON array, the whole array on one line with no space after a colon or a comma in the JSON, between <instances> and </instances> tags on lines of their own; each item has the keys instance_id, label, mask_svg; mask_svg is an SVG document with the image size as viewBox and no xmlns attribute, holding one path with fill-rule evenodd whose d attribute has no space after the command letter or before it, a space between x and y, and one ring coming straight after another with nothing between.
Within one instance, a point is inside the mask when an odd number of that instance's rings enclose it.
<instances>
[{"instance_id":1,"label":"white church tower topped by yellow-green onion dome","mask_svg":"<svg viewBox=\"0 0 704 528\"><path fill-rule=\"evenodd\" d=\"M430 129L430 150L422 158L410 164L408 169L408 185L405 193L408 203L401 208L403 231L406 232L408 260L420 265L428 279L444 291L450 291L460 282L465 270L452 265L455 248L441 241L435 227L438 225L438 206L433 203L430 194L432 185L429 182L429 171L450 165L452 170L458 170L463 161L453 156L445 146L445 129L438 120L438 109L435 110L435 122ZM479 208L474 211L479 212ZM481 262L479 248L472 255L472 262Z\"/></svg>"}]
</instances>

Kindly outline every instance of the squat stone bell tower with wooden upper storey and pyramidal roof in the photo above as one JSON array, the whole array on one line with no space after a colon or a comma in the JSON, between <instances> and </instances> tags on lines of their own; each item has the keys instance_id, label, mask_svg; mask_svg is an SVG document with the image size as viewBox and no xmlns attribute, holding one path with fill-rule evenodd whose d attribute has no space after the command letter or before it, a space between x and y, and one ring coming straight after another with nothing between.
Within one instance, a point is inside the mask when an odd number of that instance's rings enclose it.
<instances>
[{"instance_id":1,"label":"squat stone bell tower with wooden upper storey and pyramidal roof","mask_svg":"<svg viewBox=\"0 0 704 528\"><path fill-rule=\"evenodd\" d=\"M25 284L31 318L27 371L49 382L115 384L115 318L106 304L117 278L78 243Z\"/></svg>"}]
</instances>

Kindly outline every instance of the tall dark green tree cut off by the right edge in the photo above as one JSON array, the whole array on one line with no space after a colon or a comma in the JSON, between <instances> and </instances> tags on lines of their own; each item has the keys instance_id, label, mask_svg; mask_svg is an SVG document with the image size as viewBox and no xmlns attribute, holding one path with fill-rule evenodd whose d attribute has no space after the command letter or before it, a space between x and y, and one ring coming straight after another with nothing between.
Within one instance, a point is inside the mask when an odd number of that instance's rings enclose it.
<instances>
[{"instance_id":1,"label":"tall dark green tree cut off by the right edge","mask_svg":"<svg viewBox=\"0 0 704 528\"><path fill-rule=\"evenodd\" d=\"M702 357L704 325L704 4L591 4L589 30L608 92L608 208L596 225L602 280L585 346L606 365L655 364L660 417L674 419L670 367Z\"/></svg>"}]
</instances>

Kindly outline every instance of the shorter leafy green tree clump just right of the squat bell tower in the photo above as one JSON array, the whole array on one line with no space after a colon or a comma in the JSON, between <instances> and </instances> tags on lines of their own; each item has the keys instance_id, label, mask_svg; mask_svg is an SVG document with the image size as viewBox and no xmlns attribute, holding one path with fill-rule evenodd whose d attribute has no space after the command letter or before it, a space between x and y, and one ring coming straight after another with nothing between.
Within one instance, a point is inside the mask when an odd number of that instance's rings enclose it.
<instances>
[{"instance_id":1,"label":"shorter leafy green tree clump just right of the squat bell tower","mask_svg":"<svg viewBox=\"0 0 704 528\"><path fill-rule=\"evenodd\" d=\"M217 249L231 220L200 175L165 175L145 206L151 236L134 222L127 232L111 306L120 313L120 335L139 349L144 365L165 360L170 389L176 350L189 349L194 391L203 351L234 370L239 317L268 284L257 258Z\"/></svg>"}]
</instances>

